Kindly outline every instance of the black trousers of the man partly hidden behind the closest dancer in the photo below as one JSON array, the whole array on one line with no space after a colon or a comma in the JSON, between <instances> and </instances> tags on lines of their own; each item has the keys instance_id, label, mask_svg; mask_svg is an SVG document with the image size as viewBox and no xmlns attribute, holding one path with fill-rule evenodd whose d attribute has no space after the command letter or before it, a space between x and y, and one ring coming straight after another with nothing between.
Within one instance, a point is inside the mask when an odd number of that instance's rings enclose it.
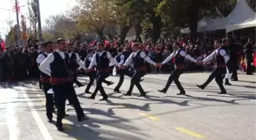
<instances>
[{"instance_id":1,"label":"black trousers of the man partly hidden behind the closest dancer","mask_svg":"<svg viewBox=\"0 0 256 140\"><path fill-rule=\"evenodd\" d=\"M52 89L50 82L42 82L43 92L46 97L46 116L49 120L53 119L53 94L48 94L48 90Z\"/></svg>"}]
</instances>

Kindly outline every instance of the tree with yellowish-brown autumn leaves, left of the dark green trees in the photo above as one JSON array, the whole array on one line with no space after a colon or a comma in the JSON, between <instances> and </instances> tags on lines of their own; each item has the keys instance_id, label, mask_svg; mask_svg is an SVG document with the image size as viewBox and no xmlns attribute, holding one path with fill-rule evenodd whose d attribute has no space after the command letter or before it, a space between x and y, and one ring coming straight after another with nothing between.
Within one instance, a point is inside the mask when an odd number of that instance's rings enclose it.
<instances>
[{"instance_id":1,"label":"tree with yellowish-brown autumn leaves, left of the dark green trees","mask_svg":"<svg viewBox=\"0 0 256 140\"><path fill-rule=\"evenodd\" d=\"M97 33L102 40L104 28L117 24L111 7L107 0L78 0L72 16L77 19L81 31Z\"/></svg>"}]
</instances>

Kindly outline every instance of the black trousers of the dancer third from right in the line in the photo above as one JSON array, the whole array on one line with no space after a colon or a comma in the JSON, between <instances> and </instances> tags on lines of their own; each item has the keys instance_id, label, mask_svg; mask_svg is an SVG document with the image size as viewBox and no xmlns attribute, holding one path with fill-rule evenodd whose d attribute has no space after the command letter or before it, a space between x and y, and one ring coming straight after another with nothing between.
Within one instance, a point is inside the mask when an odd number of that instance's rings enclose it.
<instances>
[{"instance_id":1,"label":"black trousers of the dancer third from right in the line","mask_svg":"<svg viewBox=\"0 0 256 140\"><path fill-rule=\"evenodd\" d=\"M146 95L146 92L144 92L144 90L142 89L142 86L140 85L140 79L142 78L142 76L145 76L145 74L146 74L146 71L144 72L139 70L136 70L135 73L133 73L128 93L132 93L133 87L136 86L141 95Z\"/></svg>"}]
</instances>

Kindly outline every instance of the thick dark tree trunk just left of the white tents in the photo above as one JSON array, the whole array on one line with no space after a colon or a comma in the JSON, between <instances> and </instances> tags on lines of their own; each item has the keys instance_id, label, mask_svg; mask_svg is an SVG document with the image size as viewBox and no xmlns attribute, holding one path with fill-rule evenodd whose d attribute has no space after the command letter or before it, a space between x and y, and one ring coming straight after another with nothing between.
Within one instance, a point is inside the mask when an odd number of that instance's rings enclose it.
<instances>
[{"instance_id":1,"label":"thick dark tree trunk just left of the white tents","mask_svg":"<svg viewBox=\"0 0 256 140\"><path fill-rule=\"evenodd\" d=\"M198 14L199 14L199 5L197 2L193 1L192 5L190 5L190 7L187 10L191 42L196 42L197 40L197 22L199 20Z\"/></svg>"}]
</instances>

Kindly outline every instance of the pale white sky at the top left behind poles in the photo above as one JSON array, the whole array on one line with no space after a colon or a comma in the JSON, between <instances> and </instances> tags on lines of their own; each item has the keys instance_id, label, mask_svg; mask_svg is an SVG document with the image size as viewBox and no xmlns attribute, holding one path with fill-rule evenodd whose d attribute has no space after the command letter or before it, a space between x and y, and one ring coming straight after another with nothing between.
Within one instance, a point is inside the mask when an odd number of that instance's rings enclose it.
<instances>
[{"instance_id":1,"label":"pale white sky at the top left behind poles","mask_svg":"<svg viewBox=\"0 0 256 140\"><path fill-rule=\"evenodd\" d=\"M21 23L21 14L28 15L27 0L18 0L18 2L21 6L21 13L19 15ZM0 33L3 39L5 39L5 35L8 33L8 30L10 30L6 20L14 20L13 23L17 23L16 14L12 10L14 8L14 4L14 0L0 0ZM48 17L51 15L62 14L75 6L75 4L76 0L40 0L40 15L42 26L46 26L45 20ZM3 10L2 8L11 10L9 10L9 12ZM9 13L11 16L9 16ZM27 19L27 26L29 26L29 19Z\"/></svg>"}]
</instances>

